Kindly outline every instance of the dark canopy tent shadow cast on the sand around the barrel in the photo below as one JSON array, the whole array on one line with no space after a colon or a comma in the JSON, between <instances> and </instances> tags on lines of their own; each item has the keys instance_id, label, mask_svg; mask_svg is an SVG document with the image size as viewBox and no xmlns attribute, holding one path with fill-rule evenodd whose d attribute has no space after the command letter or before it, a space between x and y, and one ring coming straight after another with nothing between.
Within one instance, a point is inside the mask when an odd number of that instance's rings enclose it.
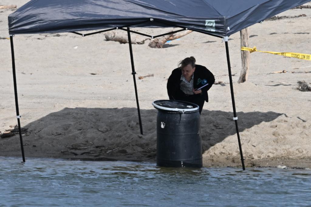
<instances>
[{"instance_id":1,"label":"dark canopy tent shadow cast on the sand around the barrel","mask_svg":"<svg viewBox=\"0 0 311 207\"><path fill-rule=\"evenodd\" d=\"M154 161L157 110L142 109L141 115L144 135L140 134L137 108L64 108L23 127L28 129L27 136L23 136L25 156ZM280 115L282 113L238 112L239 131L270 122ZM232 117L232 112L202 111L203 152L236 134ZM16 142L18 136L14 137ZM12 139L5 141L12 142ZM237 139L236 143L238 148ZM20 146L15 144L14 151L18 149Z\"/></svg>"}]
</instances>

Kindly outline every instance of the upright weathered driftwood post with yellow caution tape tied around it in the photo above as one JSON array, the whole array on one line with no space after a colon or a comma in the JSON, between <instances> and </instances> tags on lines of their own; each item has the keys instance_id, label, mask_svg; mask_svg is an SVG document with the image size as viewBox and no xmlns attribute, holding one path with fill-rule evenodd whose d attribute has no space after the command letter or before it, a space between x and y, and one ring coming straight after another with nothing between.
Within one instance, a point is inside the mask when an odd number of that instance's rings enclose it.
<instances>
[{"instance_id":1,"label":"upright weathered driftwood post with yellow caution tape tied around it","mask_svg":"<svg viewBox=\"0 0 311 207\"><path fill-rule=\"evenodd\" d=\"M241 36L241 47L249 47L248 40L248 28L245 28L240 31ZM248 78L248 68L249 68L249 51L241 50L241 59L242 59L242 69L239 77L238 83L244 83Z\"/></svg>"}]
</instances>

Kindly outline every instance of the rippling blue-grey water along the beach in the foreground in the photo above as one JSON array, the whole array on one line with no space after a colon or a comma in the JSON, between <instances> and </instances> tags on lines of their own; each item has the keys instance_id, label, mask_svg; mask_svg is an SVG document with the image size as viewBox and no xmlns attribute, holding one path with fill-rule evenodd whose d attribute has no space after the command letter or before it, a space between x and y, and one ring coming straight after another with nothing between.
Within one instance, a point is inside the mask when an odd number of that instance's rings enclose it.
<instances>
[{"instance_id":1,"label":"rippling blue-grey water along the beach in the foreground","mask_svg":"<svg viewBox=\"0 0 311 207\"><path fill-rule=\"evenodd\" d=\"M0 157L0 206L311 206L311 171Z\"/></svg>"}]
</instances>

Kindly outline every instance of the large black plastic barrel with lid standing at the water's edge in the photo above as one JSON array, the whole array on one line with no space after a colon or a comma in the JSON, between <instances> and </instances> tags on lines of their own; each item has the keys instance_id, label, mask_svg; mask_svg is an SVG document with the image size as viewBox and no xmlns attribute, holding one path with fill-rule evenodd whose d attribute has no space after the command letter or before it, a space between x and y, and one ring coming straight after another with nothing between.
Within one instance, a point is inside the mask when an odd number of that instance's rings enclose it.
<instances>
[{"instance_id":1,"label":"large black plastic barrel with lid standing at the water's edge","mask_svg":"<svg viewBox=\"0 0 311 207\"><path fill-rule=\"evenodd\" d=\"M202 167L199 106L185 101L158 100L157 165Z\"/></svg>"}]
</instances>

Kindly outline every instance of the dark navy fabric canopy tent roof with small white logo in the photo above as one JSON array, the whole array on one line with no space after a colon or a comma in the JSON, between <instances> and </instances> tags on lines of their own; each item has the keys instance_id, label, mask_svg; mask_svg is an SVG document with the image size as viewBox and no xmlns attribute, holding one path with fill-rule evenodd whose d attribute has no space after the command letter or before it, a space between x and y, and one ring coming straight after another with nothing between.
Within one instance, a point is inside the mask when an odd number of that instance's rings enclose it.
<instances>
[{"instance_id":1,"label":"dark navy fabric canopy tent roof with small white logo","mask_svg":"<svg viewBox=\"0 0 311 207\"><path fill-rule=\"evenodd\" d=\"M9 34L176 26L224 37L309 1L31 0L8 16Z\"/></svg>"}]
</instances>

